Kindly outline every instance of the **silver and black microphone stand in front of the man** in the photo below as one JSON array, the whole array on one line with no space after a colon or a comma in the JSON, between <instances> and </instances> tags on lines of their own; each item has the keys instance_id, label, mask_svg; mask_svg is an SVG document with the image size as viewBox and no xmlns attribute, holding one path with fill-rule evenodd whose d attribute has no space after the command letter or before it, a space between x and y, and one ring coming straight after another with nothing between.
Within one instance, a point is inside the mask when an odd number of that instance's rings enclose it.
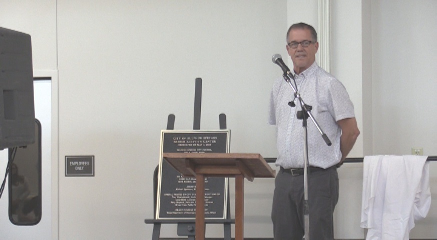
<instances>
[{"instance_id":1,"label":"silver and black microphone stand in front of the man","mask_svg":"<svg viewBox=\"0 0 437 240\"><path fill-rule=\"evenodd\" d=\"M303 158L304 158L304 168L303 168L303 187L304 187L304 223L305 223L305 240L310 240L309 236L309 205L308 205L308 129L307 129L307 119L308 117L311 118L312 122L317 127L318 131L322 135L323 140L326 142L328 146L332 145L331 141L329 140L328 136L323 132L323 130L320 128L320 125L315 120L314 116L311 114L312 106L305 104L302 97L300 96L299 92L297 91L297 85L294 86L291 83L290 78L294 80L294 76L289 72L284 72L282 75L284 77L284 80L291 86L291 88L294 91L294 96L299 100L300 106L302 108L301 111L297 112L297 119L302 119L302 126L303 126L303 143L304 143L304 149L303 149ZM296 83L294 83L296 84ZM296 106L294 102L289 102L289 105L291 107Z\"/></svg>"}]
</instances>

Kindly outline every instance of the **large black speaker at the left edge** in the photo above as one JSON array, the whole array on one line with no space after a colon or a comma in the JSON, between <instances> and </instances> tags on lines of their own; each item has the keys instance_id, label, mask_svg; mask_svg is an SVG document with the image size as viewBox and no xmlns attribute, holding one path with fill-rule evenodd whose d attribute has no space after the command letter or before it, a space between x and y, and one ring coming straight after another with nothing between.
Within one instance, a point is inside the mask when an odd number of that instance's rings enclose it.
<instances>
[{"instance_id":1,"label":"large black speaker at the left edge","mask_svg":"<svg viewBox=\"0 0 437 240\"><path fill-rule=\"evenodd\" d=\"M0 149L34 141L31 36L0 27Z\"/></svg>"}]
</instances>

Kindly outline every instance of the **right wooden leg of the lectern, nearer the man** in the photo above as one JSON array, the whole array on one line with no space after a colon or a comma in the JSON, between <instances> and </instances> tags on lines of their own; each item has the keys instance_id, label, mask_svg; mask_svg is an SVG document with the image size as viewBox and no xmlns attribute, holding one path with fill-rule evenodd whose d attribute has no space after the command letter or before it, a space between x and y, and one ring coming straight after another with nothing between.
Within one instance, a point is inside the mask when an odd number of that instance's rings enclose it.
<instances>
[{"instance_id":1,"label":"right wooden leg of the lectern, nearer the man","mask_svg":"<svg viewBox=\"0 0 437 240\"><path fill-rule=\"evenodd\" d=\"M235 240L243 240L244 223L244 177L235 176Z\"/></svg>"}]
</instances>

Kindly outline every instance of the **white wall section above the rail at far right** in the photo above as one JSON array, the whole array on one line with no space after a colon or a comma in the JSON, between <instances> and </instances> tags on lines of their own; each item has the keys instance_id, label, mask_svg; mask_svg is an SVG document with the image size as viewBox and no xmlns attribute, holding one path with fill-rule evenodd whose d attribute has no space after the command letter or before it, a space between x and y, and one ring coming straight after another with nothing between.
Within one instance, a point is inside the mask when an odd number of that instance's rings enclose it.
<instances>
[{"instance_id":1,"label":"white wall section above the rail at far right","mask_svg":"<svg viewBox=\"0 0 437 240\"><path fill-rule=\"evenodd\" d=\"M435 10L433 0L373 3L375 153L408 154L412 146L437 153Z\"/></svg>"}]
</instances>

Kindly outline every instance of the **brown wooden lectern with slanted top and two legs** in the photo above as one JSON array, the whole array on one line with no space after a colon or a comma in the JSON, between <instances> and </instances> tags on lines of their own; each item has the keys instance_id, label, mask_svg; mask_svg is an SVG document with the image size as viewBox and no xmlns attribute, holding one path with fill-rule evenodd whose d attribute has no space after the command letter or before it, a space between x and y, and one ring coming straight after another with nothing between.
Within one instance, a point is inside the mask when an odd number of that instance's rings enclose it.
<instances>
[{"instance_id":1,"label":"brown wooden lectern with slanted top and two legs","mask_svg":"<svg viewBox=\"0 0 437 240\"><path fill-rule=\"evenodd\" d=\"M235 240L243 240L244 178L275 177L256 153L163 153L184 176L196 177L196 240L205 239L205 177L235 177Z\"/></svg>"}]
</instances>

